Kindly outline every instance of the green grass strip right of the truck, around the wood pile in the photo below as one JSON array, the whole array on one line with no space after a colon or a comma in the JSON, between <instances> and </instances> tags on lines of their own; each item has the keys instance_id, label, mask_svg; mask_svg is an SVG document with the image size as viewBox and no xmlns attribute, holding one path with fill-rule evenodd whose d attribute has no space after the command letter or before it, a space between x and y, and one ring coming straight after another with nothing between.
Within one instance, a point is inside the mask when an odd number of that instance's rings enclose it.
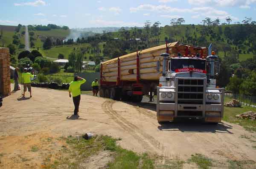
<instances>
[{"instance_id":1,"label":"green grass strip right of the truck, around the wood pile","mask_svg":"<svg viewBox=\"0 0 256 169\"><path fill-rule=\"evenodd\" d=\"M225 97L224 102L226 103L230 100L230 98ZM236 115L239 115L247 111L256 112L256 108L244 105L242 105L242 107L224 107L223 120L230 123L239 124L243 126L246 130L256 132L256 127L253 127L256 126L256 120L236 118Z\"/></svg>"}]
</instances>

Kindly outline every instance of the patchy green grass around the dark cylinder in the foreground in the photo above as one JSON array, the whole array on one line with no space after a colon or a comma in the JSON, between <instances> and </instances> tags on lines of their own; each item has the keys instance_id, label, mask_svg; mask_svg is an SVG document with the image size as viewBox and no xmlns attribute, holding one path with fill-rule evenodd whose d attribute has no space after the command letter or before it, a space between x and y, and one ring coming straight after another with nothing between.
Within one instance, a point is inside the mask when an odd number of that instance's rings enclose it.
<instances>
[{"instance_id":1,"label":"patchy green grass around the dark cylinder in the foreground","mask_svg":"<svg viewBox=\"0 0 256 169\"><path fill-rule=\"evenodd\" d=\"M84 163L92 155L97 155L102 151L109 151L113 161L109 161L108 169L137 169L140 165L141 169L154 169L153 161L147 154L139 155L130 150L122 149L116 145L116 139L109 136L96 136L89 140L82 137L69 136L61 138L66 141L68 147L62 146L60 158L54 162L50 162L47 157L44 161L46 169L78 169L81 163Z\"/></svg>"}]
</instances>

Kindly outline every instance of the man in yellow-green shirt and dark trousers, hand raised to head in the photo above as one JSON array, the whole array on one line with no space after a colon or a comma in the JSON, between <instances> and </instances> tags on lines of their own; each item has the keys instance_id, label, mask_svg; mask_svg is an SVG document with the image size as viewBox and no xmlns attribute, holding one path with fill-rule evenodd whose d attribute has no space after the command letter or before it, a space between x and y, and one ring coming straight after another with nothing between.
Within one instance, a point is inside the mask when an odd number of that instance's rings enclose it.
<instances>
[{"instance_id":1,"label":"man in yellow-green shirt and dark trousers, hand raised to head","mask_svg":"<svg viewBox=\"0 0 256 169\"><path fill-rule=\"evenodd\" d=\"M71 97L71 93L73 96L73 103L75 106L74 115L78 115L79 104L80 104L80 100L81 100L81 88L80 87L85 82L86 82L85 79L83 79L79 76L75 76L74 81L72 81L70 83L70 87L69 87L68 91L69 91L69 96Z\"/></svg>"}]
</instances>

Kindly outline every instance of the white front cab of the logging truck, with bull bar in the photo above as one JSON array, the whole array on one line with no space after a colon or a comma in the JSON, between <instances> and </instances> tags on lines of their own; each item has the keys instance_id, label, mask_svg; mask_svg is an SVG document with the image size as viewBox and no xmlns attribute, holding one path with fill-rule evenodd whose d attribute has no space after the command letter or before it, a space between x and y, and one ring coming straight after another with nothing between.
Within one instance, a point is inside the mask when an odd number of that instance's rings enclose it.
<instances>
[{"instance_id":1,"label":"white front cab of the logging truck, with bull bar","mask_svg":"<svg viewBox=\"0 0 256 169\"><path fill-rule=\"evenodd\" d=\"M163 76L157 87L158 122L174 121L175 118L203 118L206 122L220 122L224 109L224 88L216 88L218 56L214 52L207 58L200 55L161 56L164 60Z\"/></svg>"}]
</instances>

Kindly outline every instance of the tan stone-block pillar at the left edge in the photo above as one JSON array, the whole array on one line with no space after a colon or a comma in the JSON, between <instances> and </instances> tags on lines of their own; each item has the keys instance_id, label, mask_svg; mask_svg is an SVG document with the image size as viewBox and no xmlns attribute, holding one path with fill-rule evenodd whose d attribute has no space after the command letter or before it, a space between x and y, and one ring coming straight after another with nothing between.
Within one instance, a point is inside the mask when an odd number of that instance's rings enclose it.
<instances>
[{"instance_id":1,"label":"tan stone-block pillar at the left edge","mask_svg":"<svg viewBox=\"0 0 256 169\"><path fill-rule=\"evenodd\" d=\"M10 53L9 48L0 48L0 94L8 96L11 93Z\"/></svg>"}]
</instances>

